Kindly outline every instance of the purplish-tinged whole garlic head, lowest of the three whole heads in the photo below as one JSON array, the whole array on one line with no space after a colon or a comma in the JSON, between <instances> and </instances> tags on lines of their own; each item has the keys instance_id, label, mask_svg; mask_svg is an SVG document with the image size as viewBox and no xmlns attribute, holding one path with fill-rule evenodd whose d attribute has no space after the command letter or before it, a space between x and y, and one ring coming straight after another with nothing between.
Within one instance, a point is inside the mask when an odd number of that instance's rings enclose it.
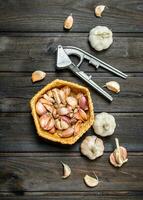
<instances>
[{"instance_id":1,"label":"purplish-tinged whole garlic head, lowest of the three whole heads","mask_svg":"<svg viewBox=\"0 0 143 200\"><path fill-rule=\"evenodd\" d=\"M87 136L81 143L81 153L88 157L90 160L103 155L104 144L100 138L96 136Z\"/></svg>"}]
</instances>

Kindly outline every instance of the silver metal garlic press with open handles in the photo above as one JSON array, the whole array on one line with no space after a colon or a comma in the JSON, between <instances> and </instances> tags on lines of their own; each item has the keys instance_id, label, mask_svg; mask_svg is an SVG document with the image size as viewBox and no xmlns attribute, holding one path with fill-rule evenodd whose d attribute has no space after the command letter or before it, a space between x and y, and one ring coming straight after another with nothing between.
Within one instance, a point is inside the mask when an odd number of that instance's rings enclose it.
<instances>
[{"instance_id":1,"label":"silver metal garlic press with open handles","mask_svg":"<svg viewBox=\"0 0 143 200\"><path fill-rule=\"evenodd\" d=\"M71 59L70 55L79 57L80 61L77 65L75 65ZM88 76L84 71L79 69L80 65L82 64L83 60L86 59L89 61L90 64L95 66L96 69L98 67L102 67L104 69L109 70L110 72L122 77L127 78L127 75L123 72L119 71L118 69L112 67L111 65L99 60L98 58L92 56L91 54L73 46L58 46L57 49L57 69L70 69L75 75L86 81L90 86L92 86L95 90L97 90L100 94L106 97L109 101L113 101L111 95L105 92L101 87L99 87L91 78Z\"/></svg>"}]
</instances>

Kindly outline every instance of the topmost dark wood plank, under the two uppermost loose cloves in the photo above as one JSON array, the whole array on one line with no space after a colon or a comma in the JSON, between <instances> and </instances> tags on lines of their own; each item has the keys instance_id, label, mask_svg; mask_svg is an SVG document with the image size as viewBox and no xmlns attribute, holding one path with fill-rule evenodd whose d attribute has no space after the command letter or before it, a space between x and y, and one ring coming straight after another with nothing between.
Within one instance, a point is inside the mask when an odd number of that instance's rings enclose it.
<instances>
[{"instance_id":1,"label":"topmost dark wood plank, under the two uppermost loose cloves","mask_svg":"<svg viewBox=\"0 0 143 200\"><path fill-rule=\"evenodd\" d=\"M89 32L94 25L108 25L114 32L143 32L143 2L140 0L106 0L103 17L96 18L97 0L79 1L0 1L1 31L63 31L63 21L71 12L72 32Z\"/></svg>"}]
</instances>

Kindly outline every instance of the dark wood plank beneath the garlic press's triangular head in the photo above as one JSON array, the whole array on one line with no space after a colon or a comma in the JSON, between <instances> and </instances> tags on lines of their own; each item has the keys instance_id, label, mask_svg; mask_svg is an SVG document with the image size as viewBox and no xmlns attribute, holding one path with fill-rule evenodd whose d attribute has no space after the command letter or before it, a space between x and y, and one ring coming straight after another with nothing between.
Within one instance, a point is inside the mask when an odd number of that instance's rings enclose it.
<instances>
[{"instance_id":1,"label":"dark wood plank beneath the garlic press's triangular head","mask_svg":"<svg viewBox=\"0 0 143 200\"><path fill-rule=\"evenodd\" d=\"M53 36L52 36L53 35ZM95 52L87 42L88 34L49 34L47 36L0 37L0 70L32 72L37 69L53 72L56 65L55 48L58 44L72 45L97 56L124 72L143 72L143 37L115 36L108 51ZM95 72L87 62L82 69ZM103 72L101 68L98 72ZM106 70L104 71L106 72Z\"/></svg>"}]
</instances>

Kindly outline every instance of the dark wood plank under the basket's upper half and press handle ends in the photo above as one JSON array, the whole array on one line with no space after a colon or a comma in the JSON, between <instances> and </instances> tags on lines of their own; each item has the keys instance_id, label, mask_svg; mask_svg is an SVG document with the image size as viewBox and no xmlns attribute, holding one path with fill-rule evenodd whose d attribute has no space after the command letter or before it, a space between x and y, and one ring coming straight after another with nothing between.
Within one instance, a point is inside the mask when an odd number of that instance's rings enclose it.
<instances>
[{"instance_id":1,"label":"dark wood plank under the basket's upper half and press handle ends","mask_svg":"<svg viewBox=\"0 0 143 200\"><path fill-rule=\"evenodd\" d=\"M69 77L66 73L48 73L44 81L32 84L31 73L1 73L0 74L0 111L1 112L30 112L29 101L38 90L47 83L59 78L73 81L87 86L79 78ZM109 76L109 74L108 74ZM119 94L112 94L114 101L109 103L96 91L91 89L91 95L95 107L95 112L143 112L143 87L142 75L140 77L129 77L127 80L118 77L107 77L107 74L93 74L93 80L100 86L107 81L115 80L121 85Z\"/></svg>"}]
</instances>

